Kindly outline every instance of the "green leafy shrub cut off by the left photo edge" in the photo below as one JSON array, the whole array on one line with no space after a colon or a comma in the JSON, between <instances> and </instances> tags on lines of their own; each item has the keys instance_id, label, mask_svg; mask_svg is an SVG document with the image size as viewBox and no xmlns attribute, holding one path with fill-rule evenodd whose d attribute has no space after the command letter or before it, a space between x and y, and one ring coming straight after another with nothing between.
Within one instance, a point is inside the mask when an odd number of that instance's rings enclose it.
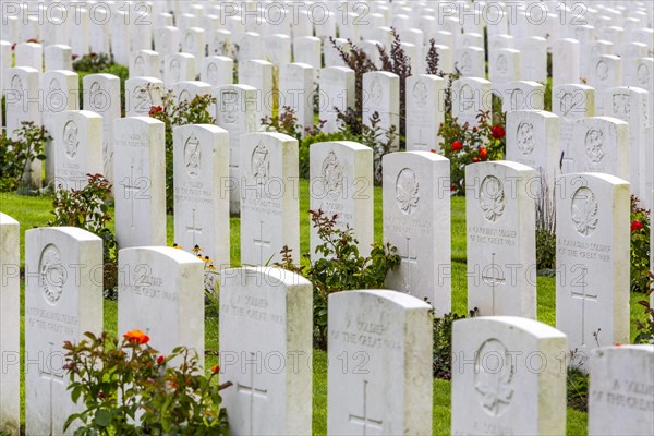
<instances>
[{"instance_id":1,"label":"green leafy shrub cut off by the left photo edge","mask_svg":"<svg viewBox=\"0 0 654 436\"><path fill-rule=\"evenodd\" d=\"M15 140L4 130L0 135L0 192L15 191L23 184L25 172L31 171L29 162L46 158L45 142L50 136L43 126L22 122L14 133Z\"/></svg>"}]
</instances>

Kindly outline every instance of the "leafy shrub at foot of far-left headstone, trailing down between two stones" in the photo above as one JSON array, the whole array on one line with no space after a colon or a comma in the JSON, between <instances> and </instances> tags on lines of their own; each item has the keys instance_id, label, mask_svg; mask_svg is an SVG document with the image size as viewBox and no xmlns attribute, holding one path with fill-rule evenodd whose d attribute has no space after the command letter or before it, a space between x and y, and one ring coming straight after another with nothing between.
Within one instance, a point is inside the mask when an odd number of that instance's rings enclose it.
<instances>
[{"instance_id":1,"label":"leafy shrub at foot of far-left headstone, trailing down between two stones","mask_svg":"<svg viewBox=\"0 0 654 436\"><path fill-rule=\"evenodd\" d=\"M59 186L52 199L55 219L48 221L48 226L78 227L102 239L105 296L114 300L118 296L118 245L113 232L107 227L111 220L107 206L111 183L101 174L86 175L88 184L81 190Z\"/></svg>"}]
</instances>

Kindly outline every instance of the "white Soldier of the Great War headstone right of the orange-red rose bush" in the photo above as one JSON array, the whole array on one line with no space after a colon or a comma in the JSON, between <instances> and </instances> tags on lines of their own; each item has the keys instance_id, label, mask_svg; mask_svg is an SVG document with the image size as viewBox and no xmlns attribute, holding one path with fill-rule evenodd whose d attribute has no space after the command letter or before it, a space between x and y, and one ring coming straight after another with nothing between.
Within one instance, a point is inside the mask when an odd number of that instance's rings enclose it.
<instances>
[{"instance_id":1,"label":"white Soldier of the Great War headstone right of the orange-red rose bush","mask_svg":"<svg viewBox=\"0 0 654 436\"><path fill-rule=\"evenodd\" d=\"M221 275L220 378L234 385L221 395L233 435L311 434L312 306L311 282L291 271Z\"/></svg>"}]
</instances>

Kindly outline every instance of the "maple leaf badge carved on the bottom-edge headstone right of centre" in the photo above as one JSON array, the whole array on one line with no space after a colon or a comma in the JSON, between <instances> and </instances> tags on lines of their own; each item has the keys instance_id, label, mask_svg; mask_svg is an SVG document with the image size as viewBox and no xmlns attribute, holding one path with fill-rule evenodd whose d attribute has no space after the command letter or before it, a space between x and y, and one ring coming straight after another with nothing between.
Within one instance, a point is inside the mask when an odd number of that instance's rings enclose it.
<instances>
[{"instance_id":1,"label":"maple leaf badge carved on the bottom-edge headstone right of centre","mask_svg":"<svg viewBox=\"0 0 654 436\"><path fill-rule=\"evenodd\" d=\"M474 389L480 405L491 416L502 415L513 398L516 367L507 348L497 339L488 339L479 348L474 360Z\"/></svg>"}]
</instances>

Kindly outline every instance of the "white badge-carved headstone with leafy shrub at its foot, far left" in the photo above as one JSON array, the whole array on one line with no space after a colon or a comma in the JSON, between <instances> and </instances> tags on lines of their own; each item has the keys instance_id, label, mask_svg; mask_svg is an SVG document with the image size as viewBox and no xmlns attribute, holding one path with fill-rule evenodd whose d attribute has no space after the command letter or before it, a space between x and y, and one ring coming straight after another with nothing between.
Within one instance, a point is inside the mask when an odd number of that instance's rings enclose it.
<instances>
[{"instance_id":1,"label":"white badge-carved headstone with leafy shrub at its foot, far left","mask_svg":"<svg viewBox=\"0 0 654 436\"><path fill-rule=\"evenodd\" d=\"M55 189L81 190L86 174L102 173L102 117L87 110L70 110L55 117L52 131Z\"/></svg>"}]
</instances>

